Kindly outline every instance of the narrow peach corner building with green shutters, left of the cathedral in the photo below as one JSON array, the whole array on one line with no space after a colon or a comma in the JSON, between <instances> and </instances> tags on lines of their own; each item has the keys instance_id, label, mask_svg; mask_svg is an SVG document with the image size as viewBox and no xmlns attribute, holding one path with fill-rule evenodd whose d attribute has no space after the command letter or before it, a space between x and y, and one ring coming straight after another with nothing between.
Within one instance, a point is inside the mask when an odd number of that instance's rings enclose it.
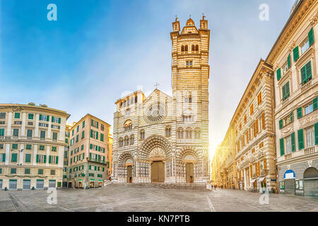
<instances>
[{"instance_id":1,"label":"narrow peach corner building with green shutters, left of the cathedral","mask_svg":"<svg viewBox=\"0 0 318 226\"><path fill-rule=\"evenodd\" d=\"M69 188L94 188L108 179L110 124L86 114L69 129Z\"/></svg>"}]
</instances>

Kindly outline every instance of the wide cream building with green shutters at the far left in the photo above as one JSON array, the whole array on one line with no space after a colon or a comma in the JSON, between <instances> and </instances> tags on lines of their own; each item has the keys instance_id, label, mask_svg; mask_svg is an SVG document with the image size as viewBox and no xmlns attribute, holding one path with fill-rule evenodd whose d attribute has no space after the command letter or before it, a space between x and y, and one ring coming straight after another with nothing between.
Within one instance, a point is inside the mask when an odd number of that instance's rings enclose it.
<instances>
[{"instance_id":1,"label":"wide cream building with green shutters at the far left","mask_svg":"<svg viewBox=\"0 0 318 226\"><path fill-rule=\"evenodd\" d=\"M66 112L0 104L0 189L61 188Z\"/></svg>"}]
</instances>

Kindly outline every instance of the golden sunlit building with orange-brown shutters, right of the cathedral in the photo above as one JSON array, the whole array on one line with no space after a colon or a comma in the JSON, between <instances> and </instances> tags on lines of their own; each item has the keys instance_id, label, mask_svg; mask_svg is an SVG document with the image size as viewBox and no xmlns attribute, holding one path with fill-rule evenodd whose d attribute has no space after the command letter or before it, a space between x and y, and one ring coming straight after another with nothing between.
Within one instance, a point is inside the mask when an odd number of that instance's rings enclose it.
<instances>
[{"instance_id":1,"label":"golden sunlit building with orange-brown shutters, right of the cathedral","mask_svg":"<svg viewBox=\"0 0 318 226\"><path fill-rule=\"evenodd\" d=\"M230 122L235 129L238 189L276 189L273 97L273 71L261 59Z\"/></svg>"}]
</instances>

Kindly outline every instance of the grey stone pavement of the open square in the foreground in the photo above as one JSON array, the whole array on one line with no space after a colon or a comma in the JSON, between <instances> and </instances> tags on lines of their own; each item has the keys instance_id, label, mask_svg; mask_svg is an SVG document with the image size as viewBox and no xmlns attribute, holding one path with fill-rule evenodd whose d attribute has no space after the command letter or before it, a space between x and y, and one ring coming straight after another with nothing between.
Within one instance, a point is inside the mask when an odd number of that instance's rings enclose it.
<instances>
[{"instance_id":1,"label":"grey stone pavement of the open square in the foreground","mask_svg":"<svg viewBox=\"0 0 318 226\"><path fill-rule=\"evenodd\" d=\"M194 191L108 185L100 189L57 191L57 204L47 191L0 191L0 211L318 211L317 198L281 194L266 196L218 189ZM264 204L259 202L261 198Z\"/></svg>"}]
</instances>

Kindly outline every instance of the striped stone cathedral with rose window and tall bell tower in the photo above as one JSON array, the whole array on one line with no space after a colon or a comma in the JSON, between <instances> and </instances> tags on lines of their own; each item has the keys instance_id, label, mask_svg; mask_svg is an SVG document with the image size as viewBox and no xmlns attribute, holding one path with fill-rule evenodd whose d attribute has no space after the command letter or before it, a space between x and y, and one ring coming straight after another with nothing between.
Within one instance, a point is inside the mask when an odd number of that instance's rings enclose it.
<instances>
[{"instance_id":1,"label":"striped stone cathedral with rose window and tall bell tower","mask_svg":"<svg viewBox=\"0 0 318 226\"><path fill-rule=\"evenodd\" d=\"M172 23L172 96L155 88L115 102L112 179L124 183L209 181L208 52L204 16L189 18L180 32Z\"/></svg>"}]
</instances>

